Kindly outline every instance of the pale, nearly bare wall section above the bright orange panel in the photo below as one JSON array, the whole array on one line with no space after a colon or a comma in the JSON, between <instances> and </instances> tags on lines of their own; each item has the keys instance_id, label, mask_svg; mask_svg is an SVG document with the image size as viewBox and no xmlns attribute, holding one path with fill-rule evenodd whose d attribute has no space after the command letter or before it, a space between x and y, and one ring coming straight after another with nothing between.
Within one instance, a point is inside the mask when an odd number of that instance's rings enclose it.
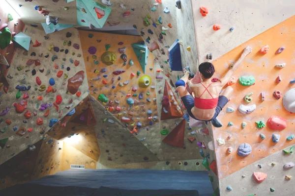
<instances>
[{"instance_id":1,"label":"pale, nearly bare wall section above the bright orange panel","mask_svg":"<svg viewBox=\"0 0 295 196\"><path fill-rule=\"evenodd\" d=\"M200 7L207 8L202 16ZM236 48L266 29L281 23L294 15L293 0L217 1L193 0L193 23L199 63L213 60ZM214 31L213 25L220 30ZM232 31L230 31L232 29Z\"/></svg>"}]
</instances>

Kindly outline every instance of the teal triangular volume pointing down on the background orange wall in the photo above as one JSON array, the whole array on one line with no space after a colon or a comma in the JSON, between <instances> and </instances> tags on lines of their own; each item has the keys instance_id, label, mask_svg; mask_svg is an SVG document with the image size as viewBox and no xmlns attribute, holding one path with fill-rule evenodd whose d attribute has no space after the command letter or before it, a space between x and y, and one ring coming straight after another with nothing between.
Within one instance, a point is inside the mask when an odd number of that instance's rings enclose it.
<instances>
[{"instance_id":1,"label":"teal triangular volume pointing down on the background orange wall","mask_svg":"<svg viewBox=\"0 0 295 196\"><path fill-rule=\"evenodd\" d=\"M131 44L134 53L143 69L143 72L146 73L146 66L148 63L148 46L144 42L138 42Z\"/></svg>"}]
</instances>

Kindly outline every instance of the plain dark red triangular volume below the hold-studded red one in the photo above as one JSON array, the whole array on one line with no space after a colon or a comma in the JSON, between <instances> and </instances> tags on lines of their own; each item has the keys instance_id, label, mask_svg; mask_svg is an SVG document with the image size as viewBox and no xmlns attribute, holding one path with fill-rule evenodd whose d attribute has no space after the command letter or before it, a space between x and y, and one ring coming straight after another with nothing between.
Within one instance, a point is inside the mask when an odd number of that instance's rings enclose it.
<instances>
[{"instance_id":1,"label":"plain dark red triangular volume below the hold-studded red one","mask_svg":"<svg viewBox=\"0 0 295 196\"><path fill-rule=\"evenodd\" d=\"M175 147L183 147L184 143L185 120L183 119L177 126L167 135L162 142Z\"/></svg>"}]
</instances>

